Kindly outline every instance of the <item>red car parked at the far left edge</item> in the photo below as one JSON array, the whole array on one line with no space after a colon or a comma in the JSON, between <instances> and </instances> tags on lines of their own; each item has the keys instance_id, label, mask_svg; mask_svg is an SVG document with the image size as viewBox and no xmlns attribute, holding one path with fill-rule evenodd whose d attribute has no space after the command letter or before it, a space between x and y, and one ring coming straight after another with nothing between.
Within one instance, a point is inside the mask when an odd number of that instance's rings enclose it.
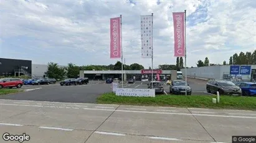
<instances>
[{"instance_id":1,"label":"red car parked at the far left edge","mask_svg":"<svg viewBox=\"0 0 256 143\"><path fill-rule=\"evenodd\" d=\"M17 87L18 89L21 88L23 85L23 82L19 78L4 78L0 79L0 89L9 87L10 89L12 87Z\"/></svg>"}]
</instances>

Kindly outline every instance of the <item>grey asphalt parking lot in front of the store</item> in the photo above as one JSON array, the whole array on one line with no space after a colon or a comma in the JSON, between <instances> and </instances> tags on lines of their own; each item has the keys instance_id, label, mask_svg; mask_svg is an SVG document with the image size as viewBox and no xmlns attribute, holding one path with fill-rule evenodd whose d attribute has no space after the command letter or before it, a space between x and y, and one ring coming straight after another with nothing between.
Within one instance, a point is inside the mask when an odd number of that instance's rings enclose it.
<instances>
[{"instance_id":1,"label":"grey asphalt parking lot in front of the store","mask_svg":"<svg viewBox=\"0 0 256 143\"><path fill-rule=\"evenodd\" d=\"M192 95L209 95L206 92L206 81L197 79L188 79L187 81L192 88ZM136 81L135 84L124 83L123 87L144 89L148 88L147 84L148 82ZM102 93L111 92L111 86L112 84L105 84L104 81L90 81L89 84L70 86L60 86L58 83L50 85L24 85L21 89L24 89L25 92L2 95L0 98L47 102L95 103L96 98L102 95ZM164 84L164 90L169 94L168 85Z\"/></svg>"}]
</instances>

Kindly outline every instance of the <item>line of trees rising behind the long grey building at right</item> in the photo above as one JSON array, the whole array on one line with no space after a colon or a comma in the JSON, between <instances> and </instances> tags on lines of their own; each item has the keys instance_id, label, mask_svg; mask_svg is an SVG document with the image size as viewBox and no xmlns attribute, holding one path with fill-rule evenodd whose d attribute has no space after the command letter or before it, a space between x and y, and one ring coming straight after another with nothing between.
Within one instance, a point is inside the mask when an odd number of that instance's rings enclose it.
<instances>
[{"instance_id":1,"label":"line of trees rising behind the long grey building at right","mask_svg":"<svg viewBox=\"0 0 256 143\"><path fill-rule=\"evenodd\" d=\"M217 57L216 57L217 58ZM230 56L229 63L223 61L222 64L211 64L209 59L206 57L204 61L201 59L197 61L197 67L203 66L216 66L216 65L242 65L242 64L256 64L256 50L254 52L247 51L246 53L240 52L239 54L235 53L233 56Z\"/></svg>"}]
</instances>

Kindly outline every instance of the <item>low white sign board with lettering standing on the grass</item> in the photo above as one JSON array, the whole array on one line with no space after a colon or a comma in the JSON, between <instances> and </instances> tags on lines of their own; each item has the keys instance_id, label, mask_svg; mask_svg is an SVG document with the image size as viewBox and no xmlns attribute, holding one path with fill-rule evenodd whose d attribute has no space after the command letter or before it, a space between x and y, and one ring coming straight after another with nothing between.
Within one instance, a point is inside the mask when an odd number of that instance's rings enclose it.
<instances>
[{"instance_id":1,"label":"low white sign board with lettering standing on the grass","mask_svg":"<svg viewBox=\"0 0 256 143\"><path fill-rule=\"evenodd\" d=\"M117 96L156 97L154 89L116 89Z\"/></svg>"}]
</instances>

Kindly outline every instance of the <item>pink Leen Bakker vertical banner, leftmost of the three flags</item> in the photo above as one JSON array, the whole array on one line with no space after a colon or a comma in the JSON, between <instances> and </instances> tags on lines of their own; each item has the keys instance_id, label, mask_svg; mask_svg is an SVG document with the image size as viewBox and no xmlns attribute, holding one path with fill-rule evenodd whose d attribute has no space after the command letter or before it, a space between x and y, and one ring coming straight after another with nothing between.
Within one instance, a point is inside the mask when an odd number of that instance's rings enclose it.
<instances>
[{"instance_id":1,"label":"pink Leen Bakker vertical banner, leftmost of the three flags","mask_svg":"<svg viewBox=\"0 0 256 143\"><path fill-rule=\"evenodd\" d=\"M110 59L121 58L120 17L110 19Z\"/></svg>"}]
</instances>

